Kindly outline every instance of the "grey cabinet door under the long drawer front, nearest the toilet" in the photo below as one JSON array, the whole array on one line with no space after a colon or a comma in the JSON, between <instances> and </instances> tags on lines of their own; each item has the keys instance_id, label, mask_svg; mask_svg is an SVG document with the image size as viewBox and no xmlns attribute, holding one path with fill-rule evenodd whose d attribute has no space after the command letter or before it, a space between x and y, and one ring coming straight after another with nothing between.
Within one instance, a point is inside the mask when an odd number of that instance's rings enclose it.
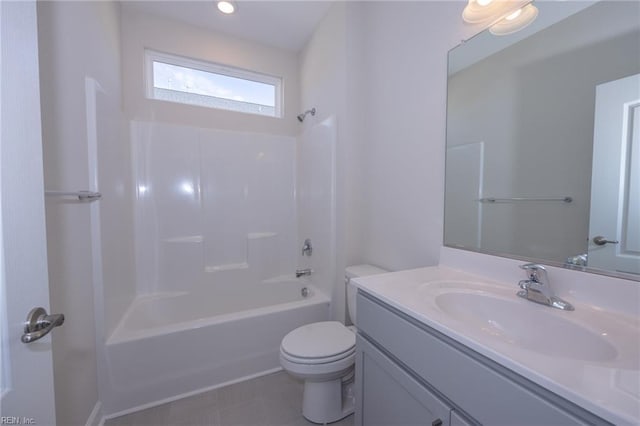
<instances>
[{"instance_id":1,"label":"grey cabinet door under the long drawer front, nearest the toilet","mask_svg":"<svg viewBox=\"0 0 640 426\"><path fill-rule=\"evenodd\" d=\"M357 424L448 426L451 408L362 337L357 338Z\"/></svg>"}]
</instances>

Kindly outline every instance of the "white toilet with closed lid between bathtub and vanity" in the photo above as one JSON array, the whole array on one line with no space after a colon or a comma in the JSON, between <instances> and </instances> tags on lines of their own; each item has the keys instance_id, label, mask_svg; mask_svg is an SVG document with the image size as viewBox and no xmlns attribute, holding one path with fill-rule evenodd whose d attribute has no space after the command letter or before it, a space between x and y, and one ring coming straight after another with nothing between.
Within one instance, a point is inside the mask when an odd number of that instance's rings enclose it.
<instances>
[{"instance_id":1,"label":"white toilet with closed lid between bathtub and vanity","mask_svg":"<svg viewBox=\"0 0 640 426\"><path fill-rule=\"evenodd\" d=\"M357 289L352 278L387 272L372 265L346 268L347 312L356 324ZM356 328L338 321L303 325L287 334L280 345L280 365L304 380L302 415L313 423L336 422L354 410L353 375Z\"/></svg>"}]
</instances>

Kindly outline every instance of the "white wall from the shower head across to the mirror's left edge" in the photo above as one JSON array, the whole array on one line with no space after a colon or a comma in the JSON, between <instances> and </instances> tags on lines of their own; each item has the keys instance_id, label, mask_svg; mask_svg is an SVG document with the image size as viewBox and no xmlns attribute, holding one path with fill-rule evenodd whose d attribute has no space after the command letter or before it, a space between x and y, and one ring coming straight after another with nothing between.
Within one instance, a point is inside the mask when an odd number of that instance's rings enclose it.
<instances>
[{"instance_id":1,"label":"white wall from the shower head across to the mirror's left edge","mask_svg":"<svg viewBox=\"0 0 640 426\"><path fill-rule=\"evenodd\" d=\"M300 55L301 107L337 116L334 318L346 265L438 262L447 51L474 31L464 4L336 3Z\"/></svg>"}]
</instances>

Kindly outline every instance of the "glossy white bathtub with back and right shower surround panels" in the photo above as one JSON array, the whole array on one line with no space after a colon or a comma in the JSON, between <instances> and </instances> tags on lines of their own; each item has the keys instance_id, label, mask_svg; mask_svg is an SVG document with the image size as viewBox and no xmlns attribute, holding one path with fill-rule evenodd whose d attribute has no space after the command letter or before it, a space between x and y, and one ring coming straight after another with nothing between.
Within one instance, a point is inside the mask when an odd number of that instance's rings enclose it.
<instances>
[{"instance_id":1,"label":"glossy white bathtub with back and right shower surround panels","mask_svg":"<svg viewBox=\"0 0 640 426\"><path fill-rule=\"evenodd\" d=\"M314 164L303 207L334 194L335 120L312 126L303 140L327 140L302 155ZM106 309L107 417L280 369L282 338L329 319L333 287L328 236L319 273L293 278L304 266L295 138L132 122L131 144L137 296L124 314ZM333 232L332 213L303 210Z\"/></svg>"}]
</instances>

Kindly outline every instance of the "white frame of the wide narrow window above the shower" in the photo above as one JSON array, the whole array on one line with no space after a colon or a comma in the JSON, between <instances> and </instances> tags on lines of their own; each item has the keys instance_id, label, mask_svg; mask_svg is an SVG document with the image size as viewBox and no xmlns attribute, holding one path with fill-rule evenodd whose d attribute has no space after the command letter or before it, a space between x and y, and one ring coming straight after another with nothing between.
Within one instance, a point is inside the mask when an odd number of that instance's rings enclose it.
<instances>
[{"instance_id":1,"label":"white frame of the wide narrow window above the shower","mask_svg":"<svg viewBox=\"0 0 640 426\"><path fill-rule=\"evenodd\" d=\"M159 99L157 97L154 96L154 73L153 73L153 63L154 62L161 62L161 63L165 63L165 64L169 64L169 65L175 65L178 67L184 67L184 68L191 68L197 71L203 71L203 72L209 72L209 73L213 73L213 74L218 74L218 75L223 75L226 77L232 77L232 78L238 78L238 79L242 79L242 80L247 80L247 81L253 81L253 82L257 82L257 83L263 83L263 84L268 84L271 86L274 86L275 90L274 90L274 115L270 115L270 114L260 114L260 113L254 113L254 112L249 112L249 111L238 111L235 109L228 109L228 108L223 108L223 107L215 107L215 106L208 106L208 105L201 105L201 104L195 104L195 103L186 103L186 102L179 102L179 101L171 101L171 100L167 100L167 99ZM206 60L201 60L201 59L193 59L193 58L187 58L185 56L180 56L180 55L174 55L171 53L164 53L164 52L159 52L157 50L152 50L152 49L145 49L144 50L144 64L145 64L145 96L147 99L150 100L154 100L154 101L164 101L164 102L173 102L173 103L178 103L181 105L191 105L191 106L200 106L203 108L213 108L213 109L219 109L219 110L223 110L223 111L231 111L231 112L238 112L238 113L243 113L243 114L252 114L252 115L258 115L258 116L262 116L262 117L271 117L271 118L283 118L283 106L282 106L282 101L283 101L283 78L282 77L276 77L273 75L268 75L268 74L263 74L263 73L259 73L256 71L249 71L246 69L242 69L242 68L237 68L237 67L233 67L233 66L229 66L229 65L222 65L219 63L215 63L215 62L210 62L210 61L206 61ZM189 92L181 92L181 93L186 93L189 94ZM207 96L207 95L198 95L198 96ZM217 98L216 96L210 96L211 98ZM217 99L224 99L224 98L217 98ZM233 102L233 100L230 100ZM240 102L242 103L242 101L235 101L235 102ZM246 103L251 103L251 102L246 102ZM254 104L255 105L255 104Z\"/></svg>"}]
</instances>

